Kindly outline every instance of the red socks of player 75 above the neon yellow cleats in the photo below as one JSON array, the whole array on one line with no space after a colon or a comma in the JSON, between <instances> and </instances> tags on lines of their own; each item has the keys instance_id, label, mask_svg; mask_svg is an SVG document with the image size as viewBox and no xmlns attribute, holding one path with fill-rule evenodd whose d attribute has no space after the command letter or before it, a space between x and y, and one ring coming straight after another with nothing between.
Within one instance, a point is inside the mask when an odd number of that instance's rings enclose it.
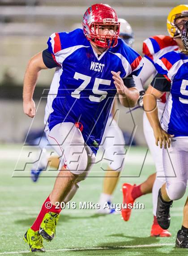
<instances>
[{"instance_id":1,"label":"red socks of player 75 above the neon yellow cleats","mask_svg":"<svg viewBox=\"0 0 188 256\"><path fill-rule=\"evenodd\" d=\"M47 206L51 203L50 201L50 197L47 197L47 199L45 200L45 202L43 203L43 206L41 208L41 211L39 212L36 220L34 221L34 224L31 226L31 229L33 229L34 231L38 231L39 228L40 228L40 224L41 222L43 221L43 218L45 216L45 214L49 211L52 211L52 212L56 212L56 213L60 213L61 211L61 208L59 209L55 209L56 206L55 205L52 205L49 209L46 208L46 203L48 202Z\"/></svg>"}]
</instances>

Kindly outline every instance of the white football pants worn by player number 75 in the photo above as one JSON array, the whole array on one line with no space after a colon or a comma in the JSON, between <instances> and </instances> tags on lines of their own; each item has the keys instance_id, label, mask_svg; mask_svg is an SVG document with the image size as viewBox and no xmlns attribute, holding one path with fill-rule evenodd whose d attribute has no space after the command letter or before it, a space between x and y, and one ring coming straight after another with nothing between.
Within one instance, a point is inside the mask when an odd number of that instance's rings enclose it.
<instances>
[{"instance_id":1,"label":"white football pants worn by player number 75","mask_svg":"<svg viewBox=\"0 0 188 256\"><path fill-rule=\"evenodd\" d=\"M71 122L54 126L46 133L47 140L60 156L60 168L85 179L95 162L95 155L85 144L81 131Z\"/></svg>"}]
</instances>

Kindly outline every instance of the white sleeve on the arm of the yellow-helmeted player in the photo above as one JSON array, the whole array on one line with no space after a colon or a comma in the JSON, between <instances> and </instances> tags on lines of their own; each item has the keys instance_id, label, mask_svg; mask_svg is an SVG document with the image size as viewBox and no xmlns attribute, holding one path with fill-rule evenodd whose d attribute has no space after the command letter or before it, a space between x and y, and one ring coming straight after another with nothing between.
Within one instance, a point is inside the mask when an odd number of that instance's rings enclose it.
<instances>
[{"instance_id":1,"label":"white sleeve on the arm of the yellow-helmeted player","mask_svg":"<svg viewBox=\"0 0 188 256\"><path fill-rule=\"evenodd\" d=\"M156 72L155 66L148 58L143 57L144 65L138 76L133 76L136 87L139 91L144 90L143 85Z\"/></svg>"}]
</instances>

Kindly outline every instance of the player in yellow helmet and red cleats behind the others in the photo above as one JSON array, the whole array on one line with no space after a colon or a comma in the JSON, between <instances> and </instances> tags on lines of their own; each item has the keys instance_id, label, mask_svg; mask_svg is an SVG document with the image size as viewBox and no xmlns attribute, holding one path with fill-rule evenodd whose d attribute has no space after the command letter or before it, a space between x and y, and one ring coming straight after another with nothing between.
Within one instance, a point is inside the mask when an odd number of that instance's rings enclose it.
<instances>
[{"instance_id":1,"label":"player in yellow helmet and red cleats behind the others","mask_svg":"<svg viewBox=\"0 0 188 256\"><path fill-rule=\"evenodd\" d=\"M183 48L182 40L181 40L181 30L184 26L184 23L188 20L188 5L180 4L173 8L167 17L167 31L169 32L169 36L157 35L151 36L144 40L143 43L143 57L144 67L139 74L140 80L136 80L137 88L140 90L140 99L145 94L143 89L143 85L150 78L150 76L154 76L156 73L155 62L162 55L170 52L172 50L177 50L179 48ZM162 96L161 99L158 100L158 114L161 119L162 112L164 111L166 104L166 97ZM153 193L153 214L154 214L154 223L151 228L151 236L160 236L167 237L171 236L171 233L168 230L162 229L157 222L156 219L156 209L157 209L157 198L158 198L158 190L165 183L165 175L163 170L162 163L162 150L155 145L155 139L153 130L150 126L150 123L144 113L143 117L143 128L145 139L150 148L150 153L154 159L156 173L139 185L131 185L128 183L123 184L122 191L124 200L123 203L134 203L134 201L140 196ZM186 212L185 205L184 213ZM130 218L131 209L122 209L122 216L125 221L128 221ZM184 214L185 215L185 214ZM183 223L186 226L185 223ZM188 227L187 227L188 228Z\"/></svg>"}]
</instances>

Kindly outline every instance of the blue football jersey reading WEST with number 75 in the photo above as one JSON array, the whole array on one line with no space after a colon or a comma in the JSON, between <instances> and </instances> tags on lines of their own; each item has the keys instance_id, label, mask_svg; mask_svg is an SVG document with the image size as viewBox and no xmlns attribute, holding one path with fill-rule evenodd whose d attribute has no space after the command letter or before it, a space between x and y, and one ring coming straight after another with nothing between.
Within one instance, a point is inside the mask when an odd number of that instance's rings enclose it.
<instances>
[{"instance_id":1,"label":"blue football jersey reading WEST with number 75","mask_svg":"<svg viewBox=\"0 0 188 256\"><path fill-rule=\"evenodd\" d=\"M45 110L46 130L61 122L81 123L85 143L96 154L116 94L111 71L138 75L142 58L123 40L98 56L82 29L54 33L48 51L57 68Z\"/></svg>"}]
</instances>

